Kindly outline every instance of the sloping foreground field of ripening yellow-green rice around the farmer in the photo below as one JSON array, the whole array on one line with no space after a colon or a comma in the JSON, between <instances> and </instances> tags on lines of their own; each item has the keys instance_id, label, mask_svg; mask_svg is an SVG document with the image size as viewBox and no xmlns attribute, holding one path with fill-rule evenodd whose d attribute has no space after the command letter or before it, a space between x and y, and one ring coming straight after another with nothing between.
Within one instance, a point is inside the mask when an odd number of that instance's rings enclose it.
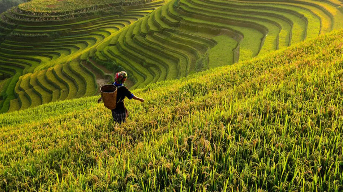
<instances>
[{"instance_id":1,"label":"sloping foreground field of ripening yellow-green rice around the farmer","mask_svg":"<svg viewBox=\"0 0 343 192\"><path fill-rule=\"evenodd\" d=\"M96 97L1 114L0 189L340 191L342 40L135 90L120 128Z\"/></svg>"}]
</instances>

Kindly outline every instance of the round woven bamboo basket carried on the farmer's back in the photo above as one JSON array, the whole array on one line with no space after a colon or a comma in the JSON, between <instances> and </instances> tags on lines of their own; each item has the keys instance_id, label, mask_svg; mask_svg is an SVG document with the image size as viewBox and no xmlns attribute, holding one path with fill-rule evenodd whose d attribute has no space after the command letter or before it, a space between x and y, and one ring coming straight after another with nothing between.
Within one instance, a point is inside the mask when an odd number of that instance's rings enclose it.
<instances>
[{"instance_id":1,"label":"round woven bamboo basket carried on the farmer's back","mask_svg":"<svg viewBox=\"0 0 343 192\"><path fill-rule=\"evenodd\" d=\"M105 107L112 110L117 104L117 87L115 85L103 85L100 87L101 96Z\"/></svg>"}]
</instances>

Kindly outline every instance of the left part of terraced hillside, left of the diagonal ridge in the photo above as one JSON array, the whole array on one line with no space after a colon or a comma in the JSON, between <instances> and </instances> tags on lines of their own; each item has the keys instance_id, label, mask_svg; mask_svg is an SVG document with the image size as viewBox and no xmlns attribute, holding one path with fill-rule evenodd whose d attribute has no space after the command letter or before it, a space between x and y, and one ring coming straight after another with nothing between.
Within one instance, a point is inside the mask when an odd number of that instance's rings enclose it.
<instances>
[{"instance_id":1,"label":"left part of terraced hillside, left of the diagonal ridge","mask_svg":"<svg viewBox=\"0 0 343 192\"><path fill-rule=\"evenodd\" d=\"M51 13L46 13L46 17L23 14L20 6L2 14L1 112L94 95L98 84L112 81L117 68L106 69L92 59L87 60L88 55L162 3L124 6L121 8L131 12L90 16L85 20L69 18L70 15L50 20ZM82 19L81 16L73 17Z\"/></svg>"}]
</instances>

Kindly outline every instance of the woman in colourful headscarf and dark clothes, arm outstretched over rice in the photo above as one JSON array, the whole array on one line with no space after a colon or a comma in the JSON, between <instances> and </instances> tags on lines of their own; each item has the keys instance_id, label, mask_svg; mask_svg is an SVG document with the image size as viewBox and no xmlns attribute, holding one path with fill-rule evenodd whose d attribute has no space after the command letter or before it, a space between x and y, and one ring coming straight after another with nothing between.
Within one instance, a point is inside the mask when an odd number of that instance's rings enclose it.
<instances>
[{"instance_id":1,"label":"woman in colourful headscarf and dark clothes, arm outstretched over rice","mask_svg":"<svg viewBox=\"0 0 343 192\"><path fill-rule=\"evenodd\" d=\"M111 111L112 111L113 120L119 124L122 122L126 122L126 118L129 114L124 105L125 97L127 97L128 99L135 99L135 100L144 102L144 99L134 96L128 90L128 88L123 85L127 77L128 77L127 73L125 71L121 71L116 74L116 78L114 82L112 83L118 88L118 90L117 90L117 105L116 105L116 108ZM98 103L101 102L102 99L103 98L100 97L98 99Z\"/></svg>"}]
</instances>

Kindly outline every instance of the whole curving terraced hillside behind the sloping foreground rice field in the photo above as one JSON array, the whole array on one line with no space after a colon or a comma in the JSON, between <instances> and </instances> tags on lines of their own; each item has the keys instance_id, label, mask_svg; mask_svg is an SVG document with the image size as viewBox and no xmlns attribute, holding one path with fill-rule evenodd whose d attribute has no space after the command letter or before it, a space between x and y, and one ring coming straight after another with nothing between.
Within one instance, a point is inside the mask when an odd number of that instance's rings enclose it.
<instances>
[{"instance_id":1,"label":"whole curving terraced hillside behind the sloping foreground rice field","mask_svg":"<svg viewBox=\"0 0 343 192\"><path fill-rule=\"evenodd\" d=\"M118 70L128 71L133 89L263 56L342 28L342 4L170 0L93 10L21 4L0 16L0 112L94 95Z\"/></svg>"}]
</instances>

